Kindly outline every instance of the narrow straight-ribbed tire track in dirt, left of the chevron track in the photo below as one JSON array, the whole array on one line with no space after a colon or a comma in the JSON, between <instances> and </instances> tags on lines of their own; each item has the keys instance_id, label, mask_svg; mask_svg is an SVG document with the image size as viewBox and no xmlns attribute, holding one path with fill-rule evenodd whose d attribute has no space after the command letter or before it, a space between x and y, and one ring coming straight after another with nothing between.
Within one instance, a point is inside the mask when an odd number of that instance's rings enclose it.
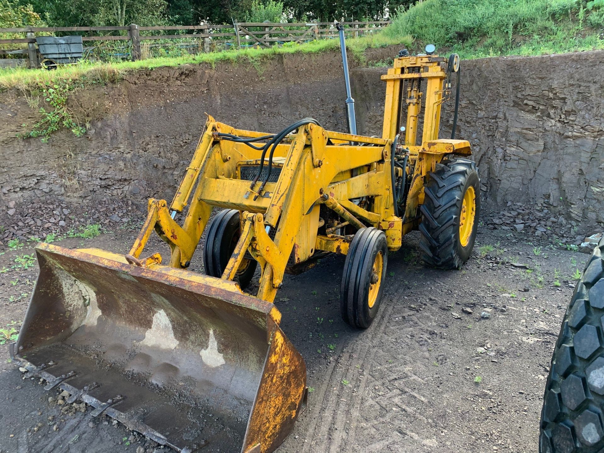
<instances>
[{"instance_id":1,"label":"narrow straight-ribbed tire track in dirt, left of the chevron track","mask_svg":"<svg viewBox=\"0 0 604 453\"><path fill-rule=\"evenodd\" d=\"M391 289L389 295L396 294L396 292L399 291L400 286L401 284L399 283L395 288ZM352 388L358 387L359 390L362 388L364 390L367 383L368 368L371 366L370 362L366 359L369 351L373 349L374 344L370 339L383 335L393 308L394 301L384 304L384 308L377 314L377 319L374 320L371 327L355 338L352 347L347 349L347 346L349 346L350 343L345 345L342 359L336 361L330 367L327 384L321 388L321 403L316 403L316 407L321 408L320 415L315 417L309 426L307 431L308 434L306 436L307 442L304 443L304 448L302 450L304 453L315 451L342 451L342 440L349 434L347 432L349 429L344 429L345 425L352 416L356 426L356 415L359 413L363 393L362 391L350 393L353 395L352 404L350 403L350 400L343 397L342 394L348 396L349 392L345 390L349 388L349 386ZM341 382L342 379L344 379L344 374L346 371L354 369L353 365L355 362L361 366L364 373L351 379L349 386L344 386ZM330 389L333 389L333 391L328 393L328 390Z\"/></svg>"}]
</instances>

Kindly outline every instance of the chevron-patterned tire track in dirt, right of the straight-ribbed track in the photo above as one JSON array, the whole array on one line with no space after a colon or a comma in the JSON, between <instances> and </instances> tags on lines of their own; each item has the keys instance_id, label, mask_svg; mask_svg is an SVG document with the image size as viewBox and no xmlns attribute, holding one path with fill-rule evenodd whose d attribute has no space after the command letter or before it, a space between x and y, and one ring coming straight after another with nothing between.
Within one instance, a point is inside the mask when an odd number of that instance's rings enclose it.
<instances>
[{"instance_id":1,"label":"chevron-patterned tire track in dirt, right of the straight-ribbed track","mask_svg":"<svg viewBox=\"0 0 604 453\"><path fill-rule=\"evenodd\" d=\"M405 451L431 451L438 445L435 423L427 415L434 413L436 403L432 401L434 397L427 396L429 385L419 376L429 375L432 370L428 370L423 357L417 355L418 347L414 344L430 332L434 316L430 309L423 310L420 318L407 307L399 305L395 308L391 322L387 323L381 337L376 338L385 347L378 350L373 359L377 366L368 374L368 385L361 396L362 405L355 414L358 420L362 414L365 422L358 423L354 431L351 429L352 435L342 451L390 451L388 447L392 444L396 444L394 451L401 451L403 445ZM402 346L410 355L401 354L400 346L399 352L392 351L401 337L404 338ZM379 365L386 362L386 365ZM408 430L408 426L413 426L414 431ZM359 444L356 441L358 432L362 432L362 439L370 440L370 443Z\"/></svg>"}]
</instances>

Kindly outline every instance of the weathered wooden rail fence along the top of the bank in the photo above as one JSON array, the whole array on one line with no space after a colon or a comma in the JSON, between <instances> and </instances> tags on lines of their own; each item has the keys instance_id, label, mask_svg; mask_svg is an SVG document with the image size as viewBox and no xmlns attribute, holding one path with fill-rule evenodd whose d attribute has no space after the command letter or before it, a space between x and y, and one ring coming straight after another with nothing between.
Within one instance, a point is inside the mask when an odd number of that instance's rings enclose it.
<instances>
[{"instance_id":1,"label":"weathered wooden rail fence along the top of the bank","mask_svg":"<svg viewBox=\"0 0 604 453\"><path fill-rule=\"evenodd\" d=\"M342 22L349 37L380 30L390 21ZM174 46L185 48L189 53L210 52L224 48L261 47L269 48L284 43L301 43L315 39L329 39L338 36L332 22L234 22L232 25L173 25L159 27L140 27L130 24L127 27L24 27L0 28L0 47L23 48L3 50L0 48L0 63L15 60L19 54L27 54L21 59L30 68L39 67L39 56L36 49L36 34L60 34L69 32L82 34L85 50L95 47L95 42L123 42L124 52L115 54L139 60L144 57L144 48ZM6 33L22 34L22 38L1 39ZM150 43L145 43L150 42ZM25 48L27 45L27 48ZM19 46L16 46L19 47ZM9 57L10 56L10 57ZM8 60L8 62L7 62ZM5 64L4 66L6 66ZM8 64L10 65L10 63ZM14 64L13 64L14 65ZM2 66L2 65L0 65Z\"/></svg>"}]
</instances>

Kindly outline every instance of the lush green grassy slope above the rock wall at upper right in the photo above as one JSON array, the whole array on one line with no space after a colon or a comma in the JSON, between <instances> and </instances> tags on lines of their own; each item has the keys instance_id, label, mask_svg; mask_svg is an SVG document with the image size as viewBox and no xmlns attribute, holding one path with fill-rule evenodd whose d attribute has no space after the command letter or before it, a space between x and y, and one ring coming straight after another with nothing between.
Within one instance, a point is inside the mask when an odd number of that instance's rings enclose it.
<instances>
[{"instance_id":1,"label":"lush green grassy slope above the rock wall at upper right","mask_svg":"<svg viewBox=\"0 0 604 453\"><path fill-rule=\"evenodd\" d=\"M600 4L603 4L602 6ZM464 59L604 48L604 2L423 0L393 14L388 37L411 35Z\"/></svg>"}]
</instances>

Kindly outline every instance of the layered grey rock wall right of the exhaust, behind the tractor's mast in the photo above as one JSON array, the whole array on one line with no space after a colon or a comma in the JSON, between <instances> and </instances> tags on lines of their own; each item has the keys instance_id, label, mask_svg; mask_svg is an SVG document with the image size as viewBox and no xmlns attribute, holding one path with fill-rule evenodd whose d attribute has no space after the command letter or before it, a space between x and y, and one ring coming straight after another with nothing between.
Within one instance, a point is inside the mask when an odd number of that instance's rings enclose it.
<instances>
[{"instance_id":1,"label":"layered grey rock wall right of the exhaust, behind the tractor's mast","mask_svg":"<svg viewBox=\"0 0 604 453\"><path fill-rule=\"evenodd\" d=\"M584 226L604 223L604 52L461 62L456 138L469 140L490 205L546 205ZM381 128L383 69L358 69L355 97ZM356 76L355 74L355 76ZM450 137L452 101L441 137Z\"/></svg>"}]
</instances>

